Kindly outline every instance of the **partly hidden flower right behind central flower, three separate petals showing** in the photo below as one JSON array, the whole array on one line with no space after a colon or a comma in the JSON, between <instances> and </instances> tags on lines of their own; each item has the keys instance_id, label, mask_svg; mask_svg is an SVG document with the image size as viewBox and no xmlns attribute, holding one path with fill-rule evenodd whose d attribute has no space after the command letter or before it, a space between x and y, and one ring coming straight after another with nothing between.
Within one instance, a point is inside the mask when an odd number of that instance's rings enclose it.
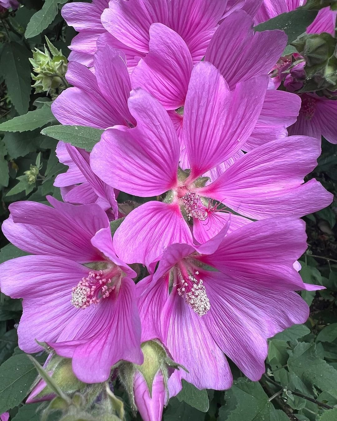
<instances>
[{"instance_id":1,"label":"partly hidden flower right behind central flower, three separate petals showing","mask_svg":"<svg viewBox=\"0 0 337 421\"><path fill-rule=\"evenodd\" d=\"M239 82L267 75L286 46L283 31L254 33L252 26L252 19L244 11L234 11L219 26L206 51L205 61L219 69L231 90ZM152 24L149 53L132 72L132 86L150 92L169 110L178 133L181 132L182 115L180 110L174 110L185 105L192 69L192 56L184 40L165 25ZM295 123L299 109L300 99L296 95L276 91L270 83L245 150L270 139L286 137L286 128Z\"/></svg>"}]
</instances>

